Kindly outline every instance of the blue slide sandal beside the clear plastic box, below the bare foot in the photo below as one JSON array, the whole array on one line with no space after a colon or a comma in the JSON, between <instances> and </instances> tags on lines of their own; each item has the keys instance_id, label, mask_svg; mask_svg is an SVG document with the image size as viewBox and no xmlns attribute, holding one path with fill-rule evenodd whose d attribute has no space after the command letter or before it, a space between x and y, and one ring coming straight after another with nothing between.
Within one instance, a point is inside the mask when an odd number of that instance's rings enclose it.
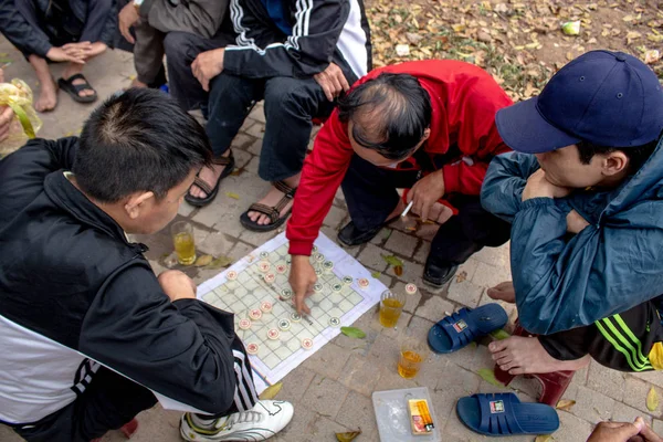
<instances>
[{"instance_id":1,"label":"blue slide sandal beside the clear plastic box, below the bare foot","mask_svg":"<svg viewBox=\"0 0 663 442\"><path fill-rule=\"evenodd\" d=\"M514 393L477 393L456 402L459 419L490 436L550 434L559 428L557 411L545 403L520 402Z\"/></svg>"}]
</instances>

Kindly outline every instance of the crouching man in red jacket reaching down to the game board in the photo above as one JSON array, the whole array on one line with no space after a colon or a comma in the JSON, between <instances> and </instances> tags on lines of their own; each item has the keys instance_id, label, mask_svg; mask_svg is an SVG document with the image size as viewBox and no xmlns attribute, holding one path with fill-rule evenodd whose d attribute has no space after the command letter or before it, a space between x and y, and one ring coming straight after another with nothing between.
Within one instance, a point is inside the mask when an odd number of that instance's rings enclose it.
<instances>
[{"instance_id":1,"label":"crouching man in red jacket reaching down to the game board","mask_svg":"<svg viewBox=\"0 0 663 442\"><path fill-rule=\"evenodd\" d=\"M457 61L421 61L372 71L343 98L317 135L287 224L291 285L298 312L316 281L308 262L313 242L339 186L351 221L338 240L370 241L403 210L397 188L427 220L442 197L457 214L431 244L423 278L442 286L484 245L508 240L509 227L481 207L478 193L491 159L508 148L495 113L512 104L490 74Z\"/></svg>"}]
</instances>

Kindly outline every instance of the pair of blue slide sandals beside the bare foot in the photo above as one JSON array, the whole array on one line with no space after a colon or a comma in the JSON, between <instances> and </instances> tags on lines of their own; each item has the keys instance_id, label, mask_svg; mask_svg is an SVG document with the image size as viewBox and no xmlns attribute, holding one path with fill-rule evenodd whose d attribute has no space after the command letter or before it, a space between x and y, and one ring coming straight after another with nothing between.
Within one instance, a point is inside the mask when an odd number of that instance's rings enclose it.
<instances>
[{"instance_id":1,"label":"pair of blue slide sandals beside the bare foot","mask_svg":"<svg viewBox=\"0 0 663 442\"><path fill-rule=\"evenodd\" d=\"M499 304L461 308L435 324L428 341L438 354L457 351L501 329L508 322ZM544 403L520 402L514 393L477 393L456 402L459 419L470 430L490 436L549 434L559 428L557 411Z\"/></svg>"}]
</instances>

